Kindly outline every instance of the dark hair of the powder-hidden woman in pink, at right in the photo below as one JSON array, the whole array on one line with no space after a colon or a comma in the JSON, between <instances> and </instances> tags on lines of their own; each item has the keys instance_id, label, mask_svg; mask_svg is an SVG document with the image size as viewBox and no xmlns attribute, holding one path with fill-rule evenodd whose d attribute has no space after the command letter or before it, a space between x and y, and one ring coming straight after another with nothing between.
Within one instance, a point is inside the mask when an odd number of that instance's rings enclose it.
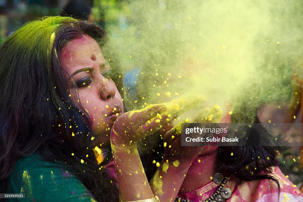
<instances>
[{"instance_id":1,"label":"dark hair of the powder-hidden woman in pink, at right","mask_svg":"<svg viewBox=\"0 0 303 202\"><path fill-rule=\"evenodd\" d=\"M270 175L272 167L279 165L277 152L275 147L268 141L268 137L271 136L269 131L264 127L259 127L261 124L258 124L260 123L257 116L258 108L254 105L250 106L250 103L250 101L245 100L245 96L241 97L237 102L235 101L231 115L231 123L257 123L255 132L262 134L258 136L258 141L262 143L261 145L268 146L219 147L217 164L229 175L241 181L273 180L277 184L278 193L280 194L280 184L278 180ZM233 155L231 155L231 153L233 153Z\"/></svg>"}]
</instances>

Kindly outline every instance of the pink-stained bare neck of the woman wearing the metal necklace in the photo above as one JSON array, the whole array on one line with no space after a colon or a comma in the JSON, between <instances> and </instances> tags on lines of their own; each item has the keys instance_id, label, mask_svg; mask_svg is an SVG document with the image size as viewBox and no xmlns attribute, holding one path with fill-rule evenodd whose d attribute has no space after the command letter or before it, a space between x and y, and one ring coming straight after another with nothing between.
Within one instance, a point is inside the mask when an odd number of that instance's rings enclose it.
<instances>
[{"instance_id":1,"label":"pink-stained bare neck of the woman wearing the metal necklace","mask_svg":"<svg viewBox=\"0 0 303 202\"><path fill-rule=\"evenodd\" d=\"M212 181L211 177L215 173L220 172L215 165L217 149L206 147L205 150L208 151L205 152L205 154L198 156L188 169L179 194L202 187Z\"/></svg>"}]
</instances>

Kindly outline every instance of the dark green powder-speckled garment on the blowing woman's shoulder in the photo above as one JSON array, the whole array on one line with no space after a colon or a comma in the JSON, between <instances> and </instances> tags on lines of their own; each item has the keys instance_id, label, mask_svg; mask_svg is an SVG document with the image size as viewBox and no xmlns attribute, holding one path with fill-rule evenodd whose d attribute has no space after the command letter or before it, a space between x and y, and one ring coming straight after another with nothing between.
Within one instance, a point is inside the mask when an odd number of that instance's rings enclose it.
<instances>
[{"instance_id":1,"label":"dark green powder-speckled garment on the blowing woman's shoulder","mask_svg":"<svg viewBox=\"0 0 303 202\"><path fill-rule=\"evenodd\" d=\"M6 193L24 193L20 201L95 201L87 188L68 170L41 159L37 153L20 158L9 177ZM16 201L16 199L7 199Z\"/></svg>"}]
</instances>

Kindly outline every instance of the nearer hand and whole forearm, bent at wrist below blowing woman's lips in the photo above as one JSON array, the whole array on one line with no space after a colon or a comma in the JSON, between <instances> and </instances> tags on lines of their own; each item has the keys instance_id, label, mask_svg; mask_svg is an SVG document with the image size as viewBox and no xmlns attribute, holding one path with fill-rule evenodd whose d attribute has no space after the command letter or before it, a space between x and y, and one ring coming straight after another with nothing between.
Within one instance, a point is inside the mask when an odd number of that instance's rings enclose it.
<instances>
[{"instance_id":1,"label":"nearer hand and whole forearm, bent at wrist below blowing woman's lips","mask_svg":"<svg viewBox=\"0 0 303 202\"><path fill-rule=\"evenodd\" d=\"M122 114L115 121L111 145L120 200L133 201L154 197L137 151L137 141L159 130L178 114L204 101L204 97L198 96L149 105L142 110Z\"/></svg>"}]
</instances>

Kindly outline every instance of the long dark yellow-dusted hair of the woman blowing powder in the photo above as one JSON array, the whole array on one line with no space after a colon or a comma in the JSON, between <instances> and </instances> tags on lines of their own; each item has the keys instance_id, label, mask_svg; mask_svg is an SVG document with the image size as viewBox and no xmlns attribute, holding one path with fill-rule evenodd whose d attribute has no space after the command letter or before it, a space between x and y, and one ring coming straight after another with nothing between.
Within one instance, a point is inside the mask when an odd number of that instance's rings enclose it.
<instances>
[{"instance_id":1,"label":"long dark yellow-dusted hair of the woman blowing powder","mask_svg":"<svg viewBox=\"0 0 303 202\"><path fill-rule=\"evenodd\" d=\"M65 44L84 34L99 43L127 103L118 59L108 49L105 31L95 23L45 17L15 31L0 47L0 193L5 193L18 158L40 151L47 161L65 162L96 200L118 201L116 185L96 163L91 149L88 114L80 104L72 103L69 94L77 92L69 92L59 62ZM124 107L125 111L129 108ZM82 164L81 159L87 163Z\"/></svg>"}]
</instances>

